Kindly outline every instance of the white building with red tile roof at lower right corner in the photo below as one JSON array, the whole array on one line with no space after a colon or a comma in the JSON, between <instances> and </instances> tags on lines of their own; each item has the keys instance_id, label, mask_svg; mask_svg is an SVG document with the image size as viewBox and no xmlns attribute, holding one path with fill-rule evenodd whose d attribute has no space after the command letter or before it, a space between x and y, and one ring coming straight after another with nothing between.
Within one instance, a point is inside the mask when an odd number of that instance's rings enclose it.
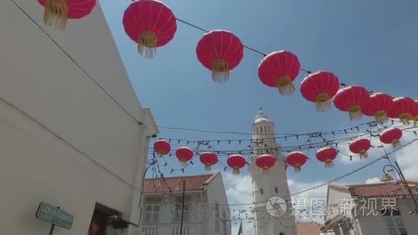
<instances>
[{"instance_id":1,"label":"white building with red tile roof at lower right corner","mask_svg":"<svg viewBox=\"0 0 418 235\"><path fill-rule=\"evenodd\" d=\"M408 181L418 196L417 181ZM350 209L351 208L351 209ZM411 235L418 233L418 214L408 190L398 182L341 186L327 192L327 214L321 231L336 235Z\"/></svg>"}]
</instances>

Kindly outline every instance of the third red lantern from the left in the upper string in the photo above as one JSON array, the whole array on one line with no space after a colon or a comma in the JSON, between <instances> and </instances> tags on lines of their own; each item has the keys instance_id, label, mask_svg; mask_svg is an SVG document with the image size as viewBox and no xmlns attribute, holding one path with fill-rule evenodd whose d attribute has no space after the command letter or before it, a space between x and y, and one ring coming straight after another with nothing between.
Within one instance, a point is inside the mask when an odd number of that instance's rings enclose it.
<instances>
[{"instance_id":1,"label":"third red lantern from the left in the upper string","mask_svg":"<svg viewBox=\"0 0 418 235\"><path fill-rule=\"evenodd\" d=\"M230 71L241 62L244 47L238 37L225 30L213 30L200 38L197 59L212 71L212 80L226 82Z\"/></svg>"}]
</instances>

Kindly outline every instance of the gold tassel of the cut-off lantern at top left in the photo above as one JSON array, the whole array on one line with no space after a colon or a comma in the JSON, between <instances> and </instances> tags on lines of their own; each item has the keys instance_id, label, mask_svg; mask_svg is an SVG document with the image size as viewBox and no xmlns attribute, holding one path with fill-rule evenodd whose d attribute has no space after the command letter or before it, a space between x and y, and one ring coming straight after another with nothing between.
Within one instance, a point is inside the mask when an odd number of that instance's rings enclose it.
<instances>
[{"instance_id":1,"label":"gold tassel of the cut-off lantern at top left","mask_svg":"<svg viewBox=\"0 0 418 235\"><path fill-rule=\"evenodd\" d=\"M68 21L68 5L66 0L46 0L43 12L43 22L64 30Z\"/></svg>"}]
</instances>

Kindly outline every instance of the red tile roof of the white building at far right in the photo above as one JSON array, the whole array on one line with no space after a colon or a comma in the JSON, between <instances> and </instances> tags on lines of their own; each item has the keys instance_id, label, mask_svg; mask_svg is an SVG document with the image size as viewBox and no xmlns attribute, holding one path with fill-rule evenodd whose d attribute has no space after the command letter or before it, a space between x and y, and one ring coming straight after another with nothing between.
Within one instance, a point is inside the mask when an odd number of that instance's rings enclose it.
<instances>
[{"instance_id":1,"label":"red tile roof of the white building at far right","mask_svg":"<svg viewBox=\"0 0 418 235\"><path fill-rule=\"evenodd\" d=\"M417 183L408 185L414 187ZM412 193L418 195L418 188L412 188ZM370 183L349 186L349 192L352 197L402 197L408 196L409 192L400 182Z\"/></svg>"}]
</instances>

